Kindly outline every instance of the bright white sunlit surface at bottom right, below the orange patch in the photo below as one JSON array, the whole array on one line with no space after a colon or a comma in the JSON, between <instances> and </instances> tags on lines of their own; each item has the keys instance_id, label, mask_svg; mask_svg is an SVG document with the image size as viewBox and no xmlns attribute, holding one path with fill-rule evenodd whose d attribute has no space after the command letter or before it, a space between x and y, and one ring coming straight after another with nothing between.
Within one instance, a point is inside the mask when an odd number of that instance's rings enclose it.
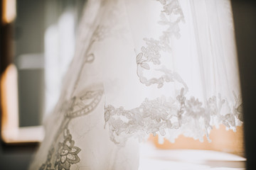
<instances>
[{"instance_id":1,"label":"bright white sunlit surface at bottom right, below the orange patch","mask_svg":"<svg viewBox=\"0 0 256 170\"><path fill-rule=\"evenodd\" d=\"M156 149L141 145L139 170L245 169L245 158L235 154L196 149Z\"/></svg>"}]
</instances>

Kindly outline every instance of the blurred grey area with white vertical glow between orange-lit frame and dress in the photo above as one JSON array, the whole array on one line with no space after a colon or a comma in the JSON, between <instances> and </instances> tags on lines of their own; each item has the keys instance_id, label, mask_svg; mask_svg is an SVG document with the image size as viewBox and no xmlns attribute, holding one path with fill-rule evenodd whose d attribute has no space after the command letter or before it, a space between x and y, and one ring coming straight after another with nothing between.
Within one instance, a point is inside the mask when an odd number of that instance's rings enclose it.
<instances>
[{"instance_id":1,"label":"blurred grey area with white vertical glow between orange-lit frame and dress","mask_svg":"<svg viewBox=\"0 0 256 170\"><path fill-rule=\"evenodd\" d=\"M43 114L55 106L61 80L73 57L84 3L85 0L16 0L12 38L21 127L40 125Z\"/></svg>"}]
</instances>

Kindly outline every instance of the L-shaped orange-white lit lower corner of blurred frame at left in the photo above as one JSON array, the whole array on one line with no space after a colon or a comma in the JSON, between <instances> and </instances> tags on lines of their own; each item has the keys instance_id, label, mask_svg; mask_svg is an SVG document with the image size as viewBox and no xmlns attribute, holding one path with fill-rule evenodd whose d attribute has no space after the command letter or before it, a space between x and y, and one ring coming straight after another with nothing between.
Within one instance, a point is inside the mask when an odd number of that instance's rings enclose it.
<instances>
[{"instance_id":1,"label":"L-shaped orange-white lit lower corner of blurred frame at left","mask_svg":"<svg viewBox=\"0 0 256 170\"><path fill-rule=\"evenodd\" d=\"M10 64L1 75L1 137L6 143L41 142L43 127L18 127L17 69Z\"/></svg>"}]
</instances>

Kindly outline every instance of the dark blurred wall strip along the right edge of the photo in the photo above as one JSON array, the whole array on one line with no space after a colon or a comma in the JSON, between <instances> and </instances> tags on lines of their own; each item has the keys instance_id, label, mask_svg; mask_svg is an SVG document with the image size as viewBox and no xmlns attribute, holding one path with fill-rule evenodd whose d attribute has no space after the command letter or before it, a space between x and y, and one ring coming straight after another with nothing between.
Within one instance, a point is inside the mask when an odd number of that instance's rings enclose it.
<instances>
[{"instance_id":1,"label":"dark blurred wall strip along the right edge of the photo","mask_svg":"<svg viewBox=\"0 0 256 170\"><path fill-rule=\"evenodd\" d=\"M247 169L256 169L256 1L233 0L242 86Z\"/></svg>"}]
</instances>

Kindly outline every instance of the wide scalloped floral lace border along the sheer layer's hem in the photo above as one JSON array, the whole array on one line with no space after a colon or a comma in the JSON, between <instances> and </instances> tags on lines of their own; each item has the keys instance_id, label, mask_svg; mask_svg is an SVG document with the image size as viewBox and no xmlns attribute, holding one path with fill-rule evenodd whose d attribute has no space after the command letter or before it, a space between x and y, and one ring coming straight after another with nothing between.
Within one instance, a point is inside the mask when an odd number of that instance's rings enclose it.
<instances>
[{"instance_id":1,"label":"wide scalloped floral lace border along the sheer layer's hem","mask_svg":"<svg viewBox=\"0 0 256 170\"><path fill-rule=\"evenodd\" d=\"M165 97L144 102L132 110L105 107L105 122L110 126L110 138L119 145L124 145L127 138L133 136L143 140L149 134L159 134L160 137L174 142L178 135L186 135L203 141L213 125L222 123L235 131L235 126L242 122L241 96L235 96L235 105L228 103L219 95L208 98L206 105L191 97L186 98L184 89L176 98ZM230 113L223 113L223 108L230 108ZM176 130L176 135L171 135Z\"/></svg>"}]
</instances>

